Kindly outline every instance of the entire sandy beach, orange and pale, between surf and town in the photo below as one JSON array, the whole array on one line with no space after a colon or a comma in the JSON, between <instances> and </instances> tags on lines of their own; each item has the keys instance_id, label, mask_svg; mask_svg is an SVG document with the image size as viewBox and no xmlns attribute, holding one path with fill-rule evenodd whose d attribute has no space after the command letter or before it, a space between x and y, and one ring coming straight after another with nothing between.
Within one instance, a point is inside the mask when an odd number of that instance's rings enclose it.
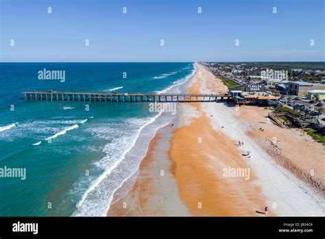
<instances>
[{"instance_id":1,"label":"entire sandy beach, orange and pale, between surf and town","mask_svg":"<svg viewBox=\"0 0 325 239\"><path fill-rule=\"evenodd\" d=\"M228 91L196 66L190 93ZM324 215L322 144L275 126L263 107L206 102L177 110L115 192L108 216L265 216L264 207L268 216Z\"/></svg>"}]
</instances>

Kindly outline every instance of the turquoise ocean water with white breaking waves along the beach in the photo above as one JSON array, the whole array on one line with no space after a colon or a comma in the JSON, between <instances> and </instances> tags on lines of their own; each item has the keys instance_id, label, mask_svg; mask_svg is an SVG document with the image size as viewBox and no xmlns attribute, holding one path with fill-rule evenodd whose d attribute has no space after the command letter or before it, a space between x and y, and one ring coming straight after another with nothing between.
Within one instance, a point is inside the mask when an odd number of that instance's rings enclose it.
<instances>
[{"instance_id":1,"label":"turquoise ocean water with white breaking waves along the beach","mask_svg":"<svg viewBox=\"0 0 325 239\"><path fill-rule=\"evenodd\" d=\"M38 80L43 69L65 81ZM191 62L0 63L0 168L26 169L25 180L0 177L0 216L105 216L173 120L144 102L29 101L22 91L180 92L194 71Z\"/></svg>"}]
</instances>

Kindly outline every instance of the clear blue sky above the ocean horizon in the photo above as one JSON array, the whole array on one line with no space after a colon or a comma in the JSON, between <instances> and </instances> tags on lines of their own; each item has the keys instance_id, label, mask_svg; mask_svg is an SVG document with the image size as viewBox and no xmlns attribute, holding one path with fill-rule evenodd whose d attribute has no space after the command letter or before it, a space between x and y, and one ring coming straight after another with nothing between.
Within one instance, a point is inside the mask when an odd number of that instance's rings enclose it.
<instances>
[{"instance_id":1,"label":"clear blue sky above the ocean horizon","mask_svg":"<svg viewBox=\"0 0 325 239\"><path fill-rule=\"evenodd\" d=\"M0 2L2 62L324 61L324 0Z\"/></svg>"}]
</instances>

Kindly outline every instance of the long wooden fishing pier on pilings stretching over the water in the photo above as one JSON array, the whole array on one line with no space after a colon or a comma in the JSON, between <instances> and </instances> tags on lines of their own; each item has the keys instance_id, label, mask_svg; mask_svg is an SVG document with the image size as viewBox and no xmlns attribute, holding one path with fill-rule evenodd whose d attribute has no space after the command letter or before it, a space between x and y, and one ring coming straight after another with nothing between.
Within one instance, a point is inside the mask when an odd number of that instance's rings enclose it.
<instances>
[{"instance_id":1,"label":"long wooden fishing pier on pilings stretching over the water","mask_svg":"<svg viewBox=\"0 0 325 239\"><path fill-rule=\"evenodd\" d=\"M93 93L65 91L25 91L25 100L71 100L93 102L216 102L230 100L228 93Z\"/></svg>"}]
</instances>

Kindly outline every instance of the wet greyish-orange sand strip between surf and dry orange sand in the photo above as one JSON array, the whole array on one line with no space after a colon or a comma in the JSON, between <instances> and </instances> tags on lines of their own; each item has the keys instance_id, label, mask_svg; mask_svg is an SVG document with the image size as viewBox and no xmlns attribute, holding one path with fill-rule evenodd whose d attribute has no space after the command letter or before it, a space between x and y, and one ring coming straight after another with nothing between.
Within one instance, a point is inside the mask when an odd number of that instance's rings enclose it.
<instances>
[{"instance_id":1,"label":"wet greyish-orange sand strip between surf and dry orange sand","mask_svg":"<svg viewBox=\"0 0 325 239\"><path fill-rule=\"evenodd\" d=\"M173 177L175 163L169 159L169 141L174 128L176 125L168 125L157 131L138 172L115 193L108 216L190 215L180 200Z\"/></svg>"}]
</instances>

